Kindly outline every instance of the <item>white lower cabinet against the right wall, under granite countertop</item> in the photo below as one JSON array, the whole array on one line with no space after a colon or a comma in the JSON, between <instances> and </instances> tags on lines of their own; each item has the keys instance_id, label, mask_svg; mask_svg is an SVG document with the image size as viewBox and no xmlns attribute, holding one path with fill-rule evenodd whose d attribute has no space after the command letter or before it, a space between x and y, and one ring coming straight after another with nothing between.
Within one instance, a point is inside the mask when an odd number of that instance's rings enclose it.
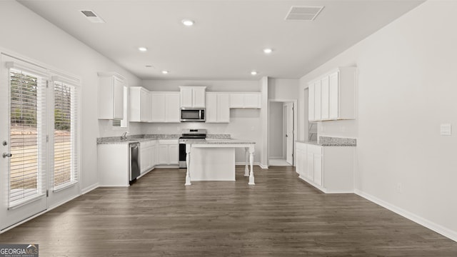
<instances>
[{"instance_id":1,"label":"white lower cabinet against the right wall, under granite countertop","mask_svg":"<svg viewBox=\"0 0 457 257\"><path fill-rule=\"evenodd\" d=\"M324 193L353 193L353 146L318 146L296 142L299 178Z\"/></svg>"}]
</instances>

